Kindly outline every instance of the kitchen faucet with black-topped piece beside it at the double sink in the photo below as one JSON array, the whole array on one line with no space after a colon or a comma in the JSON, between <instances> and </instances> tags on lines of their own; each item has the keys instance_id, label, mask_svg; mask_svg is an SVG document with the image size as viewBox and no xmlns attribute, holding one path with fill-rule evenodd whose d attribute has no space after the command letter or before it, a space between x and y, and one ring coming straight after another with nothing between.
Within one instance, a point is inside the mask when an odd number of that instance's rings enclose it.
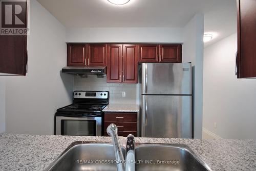
<instances>
[{"instance_id":1,"label":"kitchen faucet with black-topped piece beside it at the double sink","mask_svg":"<svg viewBox=\"0 0 256 171\"><path fill-rule=\"evenodd\" d=\"M118 139L118 128L115 124L110 124L106 132L113 139L114 152L117 162L117 171L135 171L135 151L134 151L134 135L127 136L126 144L126 162L123 157L120 142Z\"/></svg>"}]
</instances>

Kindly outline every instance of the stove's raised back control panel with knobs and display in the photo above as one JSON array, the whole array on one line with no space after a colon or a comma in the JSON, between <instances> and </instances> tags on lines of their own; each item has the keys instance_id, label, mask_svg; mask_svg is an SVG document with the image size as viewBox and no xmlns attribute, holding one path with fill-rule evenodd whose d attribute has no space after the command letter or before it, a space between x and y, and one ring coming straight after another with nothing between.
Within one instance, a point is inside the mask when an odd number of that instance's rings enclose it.
<instances>
[{"instance_id":1,"label":"stove's raised back control panel with knobs and display","mask_svg":"<svg viewBox=\"0 0 256 171\"><path fill-rule=\"evenodd\" d=\"M108 99L108 91L74 91L74 99Z\"/></svg>"}]
</instances>

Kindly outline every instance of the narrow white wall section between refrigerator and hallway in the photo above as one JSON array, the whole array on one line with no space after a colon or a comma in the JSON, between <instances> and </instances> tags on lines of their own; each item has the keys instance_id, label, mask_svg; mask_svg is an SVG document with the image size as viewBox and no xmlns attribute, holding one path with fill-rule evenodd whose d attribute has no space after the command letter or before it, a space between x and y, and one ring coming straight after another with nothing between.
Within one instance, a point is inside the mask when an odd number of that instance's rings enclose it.
<instances>
[{"instance_id":1,"label":"narrow white wall section between refrigerator and hallway","mask_svg":"<svg viewBox=\"0 0 256 171\"><path fill-rule=\"evenodd\" d=\"M194 137L202 138L204 15L195 15L184 28L182 61L192 63Z\"/></svg>"}]
</instances>

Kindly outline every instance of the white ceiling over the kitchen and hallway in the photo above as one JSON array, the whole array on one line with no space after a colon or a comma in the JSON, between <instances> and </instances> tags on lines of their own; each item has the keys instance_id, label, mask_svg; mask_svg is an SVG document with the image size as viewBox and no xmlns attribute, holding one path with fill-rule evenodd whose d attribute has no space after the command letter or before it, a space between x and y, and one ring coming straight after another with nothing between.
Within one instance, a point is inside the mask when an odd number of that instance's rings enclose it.
<instances>
[{"instance_id":1,"label":"white ceiling over the kitchen and hallway","mask_svg":"<svg viewBox=\"0 0 256 171\"><path fill-rule=\"evenodd\" d=\"M184 27L202 12L205 32L218 33L214 40L236 32L235 0L130 0L123 6L107 0L37 1L66 27Z\"/></svg>"}]
</instances>

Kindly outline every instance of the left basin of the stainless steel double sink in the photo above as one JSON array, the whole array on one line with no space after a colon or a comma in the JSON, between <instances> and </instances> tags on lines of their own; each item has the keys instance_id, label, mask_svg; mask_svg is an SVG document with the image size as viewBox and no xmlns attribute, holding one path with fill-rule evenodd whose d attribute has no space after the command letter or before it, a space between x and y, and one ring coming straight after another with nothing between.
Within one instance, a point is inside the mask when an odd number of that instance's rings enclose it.
<instances>
[{"instance_id":1,"label":"left basin of the stainless steel double sink","mask_svg":"<svg viewBox=\"0 0 256 171\"><path fill-rule=\"evenodd\" d=\"M125 149L122 148L125 156ZM82 143L71 144L69 148L46 170L79 171L79 170L117 170L113 144ZM100 163L99 163L100 162Z\"/></svg>"}]
</instances>

